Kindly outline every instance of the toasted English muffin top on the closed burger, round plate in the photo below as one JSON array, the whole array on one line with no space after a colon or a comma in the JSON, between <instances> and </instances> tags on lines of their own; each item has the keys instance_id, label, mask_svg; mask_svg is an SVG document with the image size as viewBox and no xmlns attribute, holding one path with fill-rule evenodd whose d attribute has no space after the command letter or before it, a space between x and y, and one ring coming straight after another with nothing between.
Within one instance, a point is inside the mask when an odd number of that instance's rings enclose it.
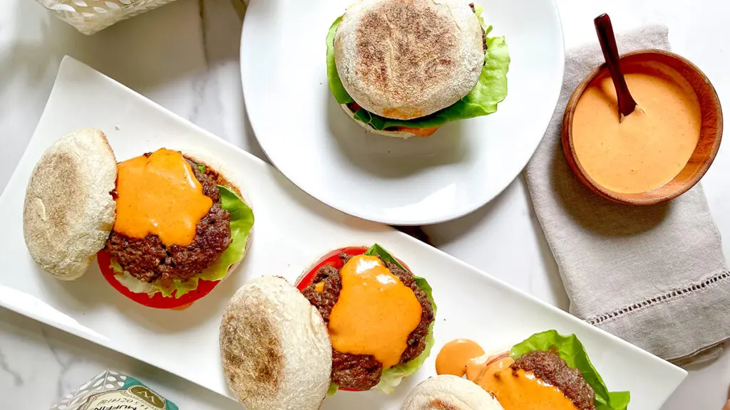
<instances>
[{"instance_id":1,"label":"toasted English muffin top on the closed burger, round plate","mask_svg":"<svg viewBox=\"0 0 730 410\"><path fill-rule=\"evenodd\" d=\"M347 93L374 114L410 120L449 107L477 84L484 33L464 0L362 0L334 37Z\"/></svg>"}]
</instances>

